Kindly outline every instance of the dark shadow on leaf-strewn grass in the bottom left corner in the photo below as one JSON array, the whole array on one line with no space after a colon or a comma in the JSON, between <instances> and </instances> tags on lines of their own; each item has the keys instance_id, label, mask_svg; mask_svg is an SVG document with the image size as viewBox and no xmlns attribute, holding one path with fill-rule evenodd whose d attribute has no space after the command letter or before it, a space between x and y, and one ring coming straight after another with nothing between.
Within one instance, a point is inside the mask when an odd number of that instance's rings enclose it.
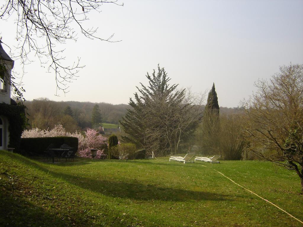
<instances>
[{"instance_id":1,"label":"dark shadow on leaf-strewn grass in the bottom left corner","mask_svg":"<svg viewBox=\"0 0 303 227\"><path fill-rule=\"evenodd\" d=\"M8 183L8 175L0 173L0 226L90 226L93 220L72 212L68 218L60 216L60 209L55 207L47 210L36 206L33 202L23 198L16 185ZM4 183L5 181L5 183ZM47 202L46 202L47 203ZM50 212L49 212L50 211Z\"/></svg>"}]
</instances>

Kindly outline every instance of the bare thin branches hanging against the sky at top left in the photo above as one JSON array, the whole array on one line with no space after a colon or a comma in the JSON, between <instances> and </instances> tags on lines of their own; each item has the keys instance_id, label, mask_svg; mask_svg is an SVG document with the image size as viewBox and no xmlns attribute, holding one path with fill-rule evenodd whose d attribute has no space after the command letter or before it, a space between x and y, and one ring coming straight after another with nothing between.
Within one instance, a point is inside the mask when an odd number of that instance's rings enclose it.
<instances>
[{"instance_id":1,"label":"bare thin branches hanging against the sky at top left","mask_svg":"<svg viewBox=\"0 0 303 227\"><path fill-rule=\"evenodd\" d=\"M72 65L63 64L64 50L58 49L58 44L66 40L77 40L77 31L85 37L102 41L112 41L114 34L108 38L96 36L97 28L85 28L83 22L88 20L88 14L95 10L100 11L103 4L119 4L117 0L4 0L0 5L0 18L16 18L16 40L18 54L24 66L28 62L29 53L34 52L41 64L48 64L48 71L55 73L57 91L64 93L68 90L68 82L77 77L76 73L83 66L79 58ZM78 29L77 29L78 28Z\"/></svg>"}]
</instances>

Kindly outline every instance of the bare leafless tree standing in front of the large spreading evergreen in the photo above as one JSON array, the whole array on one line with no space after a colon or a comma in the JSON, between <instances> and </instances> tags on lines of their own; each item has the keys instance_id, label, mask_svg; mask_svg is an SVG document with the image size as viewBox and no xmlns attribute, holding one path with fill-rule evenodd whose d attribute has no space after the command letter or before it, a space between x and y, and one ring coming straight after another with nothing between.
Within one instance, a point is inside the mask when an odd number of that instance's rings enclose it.
<instances>
[{"instance_id":1,"label":"bare leafless tree standing in front of the large spreading evergreen","mask_svg":"<svg viewBox=\"0 0 303 227\"><path fill-rule=\"evenodd\" d=\"M179 92L175 100L154 101L144 109L144 142L149 153L176 154L188 148L202 117L205 94L193 94L190 89Z\"/></svg>"}]
</instances>

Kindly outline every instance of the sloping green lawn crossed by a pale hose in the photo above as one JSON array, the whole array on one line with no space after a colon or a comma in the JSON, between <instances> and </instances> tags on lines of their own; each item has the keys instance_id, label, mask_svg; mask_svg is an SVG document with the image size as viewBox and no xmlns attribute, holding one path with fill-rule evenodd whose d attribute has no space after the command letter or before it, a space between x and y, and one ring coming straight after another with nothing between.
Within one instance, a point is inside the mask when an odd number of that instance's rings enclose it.
<instances>
[{"instance_id":1,"label":"sloping green lawn crossed by a pale hose","mask_svg":"<svg viewBox=\"0 0 303 227\"><path fill-rule=\"evenodd\" d=\"M302 226L214 169L303 219L298 176L272 163L183 164L160 158L128 162L78 159L48 164L1 151L0 223L3 226Z\"/></svg>"}]
</instances>

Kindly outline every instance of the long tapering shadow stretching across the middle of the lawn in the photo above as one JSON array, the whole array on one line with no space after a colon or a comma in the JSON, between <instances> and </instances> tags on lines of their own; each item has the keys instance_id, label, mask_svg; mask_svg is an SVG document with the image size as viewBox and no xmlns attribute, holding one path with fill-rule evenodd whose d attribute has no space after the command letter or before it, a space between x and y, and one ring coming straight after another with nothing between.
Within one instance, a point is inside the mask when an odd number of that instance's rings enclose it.
<instances>
[{"instance_id":1,"label":"long tapering shadow stretching across the middle of the lawn","mask_svg":"<svg viewBox=\"0 0 303 227\"><path fill-rule=\"evenodd\" d=\"M135 200L161 200L161 201L222 201L231 200L227 195L215 192L202 192L186 190L175 187L164 187L159 185L143 184L138 181L125 182L122 180L98 180L89 177L79 177L66 173L58 173L41 166L32 160L22 159L26 164L37 168L53 177L66 181L72 185L79 186L85 190L100 193L105 196L128 198ZM102 177L102 176L100 176ZM180 183L181 184L181 183Z\"/></svg>"}]
</instances>

